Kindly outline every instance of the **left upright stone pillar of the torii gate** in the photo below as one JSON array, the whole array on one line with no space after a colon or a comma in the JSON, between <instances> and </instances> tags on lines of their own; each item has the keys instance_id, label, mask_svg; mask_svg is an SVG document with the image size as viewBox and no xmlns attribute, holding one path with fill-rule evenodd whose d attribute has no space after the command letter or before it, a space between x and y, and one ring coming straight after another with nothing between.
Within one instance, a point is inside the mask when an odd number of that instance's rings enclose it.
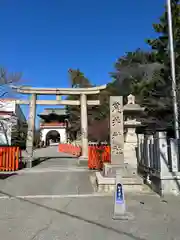
<instances>
[{"instance_id":1,"label":"left upright stone pillar of the torii gate","mask_svg":"<svg viewBox=\"0 0 180 240\"><path fill-rule=\"evenodd\" d=\"M26 140L26 151L28 154L28 159L27 159L28 168L32 167L32 160L33 160L35 117L36 117L36 94L32 94L30 96L30 103L29 103L28 132L27 132L27 140Z\"/></svg>"}]
</instances>

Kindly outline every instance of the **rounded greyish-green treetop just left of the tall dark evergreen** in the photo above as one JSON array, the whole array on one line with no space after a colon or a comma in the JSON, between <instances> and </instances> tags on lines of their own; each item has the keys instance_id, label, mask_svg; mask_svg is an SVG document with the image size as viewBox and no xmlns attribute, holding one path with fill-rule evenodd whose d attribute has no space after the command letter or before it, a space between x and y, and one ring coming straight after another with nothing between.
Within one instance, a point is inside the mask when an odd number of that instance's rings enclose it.
<instances>
[{"instance_id":1,"label":"rounded greyish-green treetop just left of the tall dark evergreen","mask_svg":"<svg viewBox=\"0 0 180 240\"><path fill-rule=\"evenodd\" d=\"M114 88L118 89L121 96L130 93L138 95L138 85L151 80L153 72L160 68L155 60L155 54L137 49L120 57L115 63L115 72L111 73L114 79ZM136 88L135 88L136 86Z\"/></svg>"}]
</instances>

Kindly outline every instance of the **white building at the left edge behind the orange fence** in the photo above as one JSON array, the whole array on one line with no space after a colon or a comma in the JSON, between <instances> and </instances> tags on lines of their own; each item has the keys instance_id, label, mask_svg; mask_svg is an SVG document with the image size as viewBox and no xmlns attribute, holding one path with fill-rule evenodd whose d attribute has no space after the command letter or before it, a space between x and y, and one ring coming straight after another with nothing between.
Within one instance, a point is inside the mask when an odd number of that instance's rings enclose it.
<instances>
[{"instance_id":1,"label":"white building at the left edge behind the orange fence","mask_svg":"<svg viewBox=\"0 0 180 240\"><path fill-rule=\"evenodd\" d=\"M15 99L0 99L0 145L25 147L27 121Z\"/></svg>"}]
</instances>

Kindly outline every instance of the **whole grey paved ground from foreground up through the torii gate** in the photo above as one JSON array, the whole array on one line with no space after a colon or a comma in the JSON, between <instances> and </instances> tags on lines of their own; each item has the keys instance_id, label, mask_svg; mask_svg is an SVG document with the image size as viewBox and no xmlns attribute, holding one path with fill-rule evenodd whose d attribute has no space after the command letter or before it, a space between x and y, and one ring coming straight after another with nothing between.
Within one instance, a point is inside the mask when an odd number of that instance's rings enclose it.
<instances>
[{"instance_id":1,"label":"whole grey paved ground from foreground up through the torii gate","mask_svg":"<svg viewBox=\"0 0 180 240\"><path fill-rule=\"evenodd\" d=\"M134 220L113 221L113 197L96 196L93 172L79 169L76 159L55 148L44 153L54 156L33 170L0 180L1 239L180 239L179 198L128 195Z\"/></svg>"}]
</instances>

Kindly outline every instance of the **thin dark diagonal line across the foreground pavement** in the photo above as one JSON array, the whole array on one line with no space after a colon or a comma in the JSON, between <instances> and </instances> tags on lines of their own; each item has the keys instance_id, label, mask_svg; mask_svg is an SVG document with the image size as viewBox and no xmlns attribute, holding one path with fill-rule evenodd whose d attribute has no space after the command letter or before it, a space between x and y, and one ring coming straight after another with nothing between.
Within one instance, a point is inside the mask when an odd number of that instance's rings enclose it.
<instances>
[{"instance_id":1,"label":"thin dark diagonal line across the foreground pavement","mask_svg":"<svg viewBox=\"0 0 180 240\"><path fill-rule=\"evenodd\" d=\"M97 227L100 227L102 229L105 229L105 230L109 230L111 232L114 232L114 233L117 233L119 235L124 235L124 236L127 236L127 237L130 237L134 240L146 240L145 238L141 238L141 237L136 237L134 236L132 233L128 233L128 232L124 232L124 231L120 231L120 230L117 230L113 227L110 227L110 226L107 226L107 225L103 225L97 221L93 221L93 220L89 220L87 218L84 218L84 217L81 217L81 216L78 216L78 215L74 215L74 214L71 214L71 213L68 213L68 212L65 212L63 210L59 210L59 209L55 209L55 208L51 208L51 207L48 207L48 206L45 206L43 204L40 204L40 203L36 203L36 202L33 202L33 201L30 201L28 199L23 199L23 198L18 198L16 196L13 196L9 193L6 193L6 192L3 192L3 191L0 191L1 194L5 195L5 196L8 196L9 198L13 198L13 199L17 199L19 201L22 201L22 202L28 202L32 205L35 205L37 207L41 207L41 208L44 208L48 211L53 211L53 212L56 212L56 213L59 213L61 215L64 215L64 216L67 216L67 217L70 217L70 218L74 218L74 219L77 219L79 221L83 221L83 222L86 222L86 223L89 223L89 224L92 224L92 225L95 225Z\"/></svg>"}]
</instances>

